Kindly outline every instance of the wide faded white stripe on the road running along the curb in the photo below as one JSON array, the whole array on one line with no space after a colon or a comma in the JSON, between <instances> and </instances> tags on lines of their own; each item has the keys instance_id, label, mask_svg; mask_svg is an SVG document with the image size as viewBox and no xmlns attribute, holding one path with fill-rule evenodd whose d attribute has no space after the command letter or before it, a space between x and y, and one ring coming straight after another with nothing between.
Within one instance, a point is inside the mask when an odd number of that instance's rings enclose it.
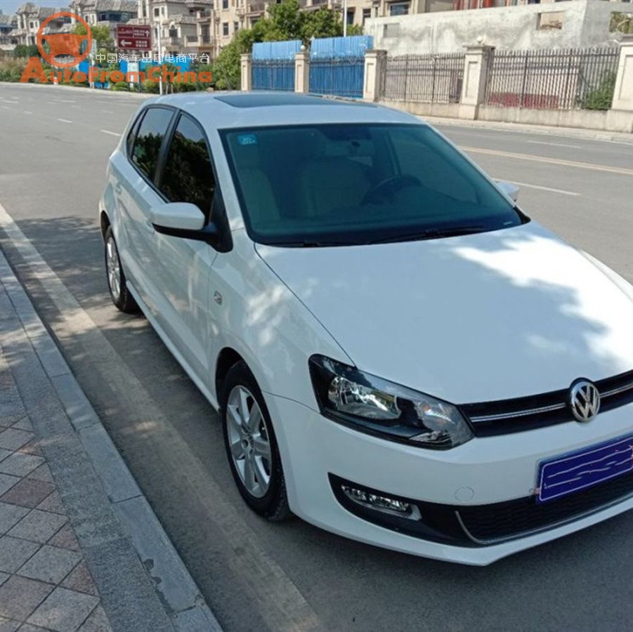
<instances>
[{"instance_id":1,"label":"wide faded white stripe on the road running along the curb","mask_svg":"<svg viewBox=\"0 0 633 632\"><path fill-rule=\"evenodd\" d=\"M72 341L74 345L79 343L90 350L95 370L103 374L107 388L117 393L117 404L121 410L128 412L132 421L136 420L129 431L142 432L145 440L154 442L152 445L157 454L161 454L162 466L170 471L174 480L182 480L183 485L187 485L187 496L202 513L201 524L210 525L215 530L220 541L214 541L214 546L228 552L228 570L253 604L254 612L266 622L267 628L273 630L322 629L317 615L299 588L259 544L259 536L246 524L221 486L192 453L178 430L157 406L155 397L126 366L2 204L0 228L30 268L30 275L56 305L60 319L56 320L53 330L58 340L62 343ZM165 446L169 449L164 449Z\"/></svg>"}]
</instances>

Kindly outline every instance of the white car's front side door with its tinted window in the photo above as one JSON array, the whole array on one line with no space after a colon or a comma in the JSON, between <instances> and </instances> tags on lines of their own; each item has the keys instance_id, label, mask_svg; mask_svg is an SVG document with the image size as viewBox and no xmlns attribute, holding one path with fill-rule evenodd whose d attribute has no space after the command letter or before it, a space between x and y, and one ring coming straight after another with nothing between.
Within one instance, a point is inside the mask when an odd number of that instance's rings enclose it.
<instances>
[{"instance_id":1,"label":"white car's front side door with its tinted window","mask_svg":"<svg viewBox=\"0 0 633 632\"><path fill-rule=\"evenodd\" d=\"M159 166L162 203L195 204L209 222L216 178L207 137L200 124L181 112ZM162 293L159 324L198 376L207 376L207 294L217 251L183 237L153 234L150 274Z\"/></svg>"}]
</instances>

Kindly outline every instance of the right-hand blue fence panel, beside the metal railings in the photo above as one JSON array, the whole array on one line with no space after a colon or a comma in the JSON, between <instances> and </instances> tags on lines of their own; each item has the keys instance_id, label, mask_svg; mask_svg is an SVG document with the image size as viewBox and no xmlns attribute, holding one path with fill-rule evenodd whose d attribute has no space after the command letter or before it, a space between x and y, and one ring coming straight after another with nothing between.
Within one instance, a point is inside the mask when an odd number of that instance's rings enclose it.
<instances>
[{"instance_id":1,"label":"right-hand blue fence panel, beside the metal railings","mask_svg":"<svg viewBox=\"0 0 633 632\"><path fill-rule=\"evenodd\" d=\"M310 48L310 91L361 98L365 51L373 43L371 35L315 39Z\"/></svg>"}]
</instances>

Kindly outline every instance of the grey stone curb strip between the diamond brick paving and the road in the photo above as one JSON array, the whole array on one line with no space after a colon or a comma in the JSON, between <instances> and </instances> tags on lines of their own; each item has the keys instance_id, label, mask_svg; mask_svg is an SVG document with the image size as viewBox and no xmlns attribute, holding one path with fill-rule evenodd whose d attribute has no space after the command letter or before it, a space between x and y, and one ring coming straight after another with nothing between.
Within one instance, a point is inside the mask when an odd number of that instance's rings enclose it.
<instances>
[{"instance_id":1,"label":"grey stone curb strip between the diamond brick paving and the road","mask_svg":"<svg viewBox=\"0 0 633 632\"><path fill-rule=\"evenodd\" d=\"M221 632L1 250L0 282L22 330L6 336L21 362L10 366L49 444L44 452L112 628ZM70 480L78 472L81 489Z\"/></svg>"}]
</instances>

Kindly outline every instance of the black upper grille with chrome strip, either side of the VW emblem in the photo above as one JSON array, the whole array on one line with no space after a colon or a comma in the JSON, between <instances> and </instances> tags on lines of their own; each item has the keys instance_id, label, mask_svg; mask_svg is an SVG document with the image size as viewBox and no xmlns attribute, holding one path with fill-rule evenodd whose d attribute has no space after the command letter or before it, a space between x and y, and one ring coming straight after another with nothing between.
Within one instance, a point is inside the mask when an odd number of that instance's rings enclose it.
<instances>
[{"instance_id":1,"label":"black upper grille with chrome strip, either side of the VW emblem","mask_svg":"<svg viewBox=\"0 0 633 632\"><path fill-rule=\"evenodd\" d=\"M600 391L600 412L633 402L633 371L595 384ZM462 404L459 408L471 421L476 436L489 437L574 421L568 397L569 389L563 388L514 400Z\"/></svg>"}]
</instances>

